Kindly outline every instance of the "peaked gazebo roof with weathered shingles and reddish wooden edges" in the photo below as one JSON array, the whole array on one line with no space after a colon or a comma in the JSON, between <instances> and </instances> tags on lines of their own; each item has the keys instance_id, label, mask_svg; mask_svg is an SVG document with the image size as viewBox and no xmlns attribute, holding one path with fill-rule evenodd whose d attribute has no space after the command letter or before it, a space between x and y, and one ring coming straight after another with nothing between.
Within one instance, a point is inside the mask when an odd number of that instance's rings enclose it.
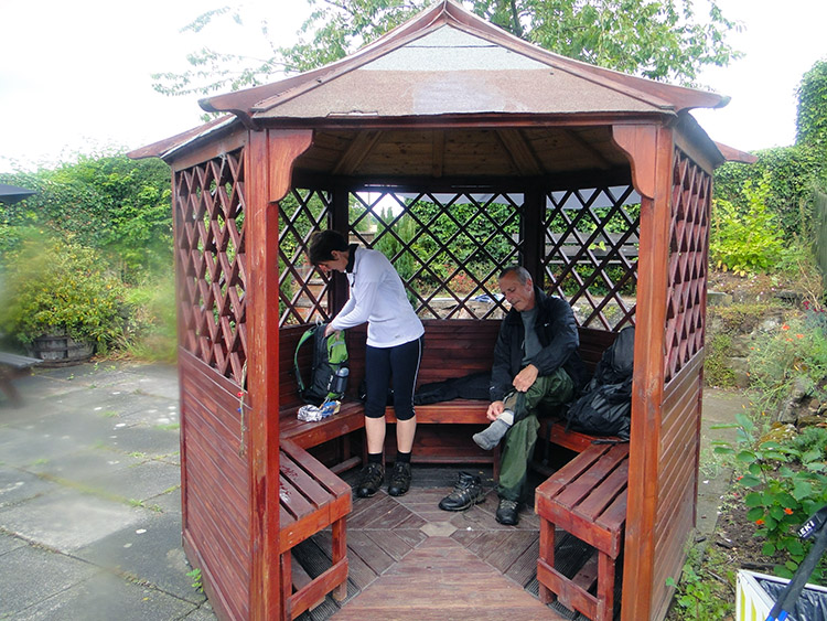
<instances>
[{"instance_id":1,"label":"peaked gazebo roof with weathered shingles and reddish wooden edges","mask_svg":"<svg viewBox=\"0 0 827 621\"><path fill-rule=\"evenodd\" d=\"M554 54L442 0L339 62L201 100L246 124L454 115L641 115L727 97Z\"/></svg>"}]
</instances>

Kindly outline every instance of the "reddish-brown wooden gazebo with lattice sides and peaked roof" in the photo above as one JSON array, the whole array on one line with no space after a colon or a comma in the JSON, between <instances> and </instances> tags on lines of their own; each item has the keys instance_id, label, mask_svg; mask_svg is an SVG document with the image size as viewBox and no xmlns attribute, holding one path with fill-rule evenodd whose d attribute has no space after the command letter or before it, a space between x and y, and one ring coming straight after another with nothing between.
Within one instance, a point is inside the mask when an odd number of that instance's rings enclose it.
<instances>
[{"instance_id":1,"label":"reddish-brown wooden gazebo with lattice sides and peaked roof","mask_svg":"<svg viewBox=\"0 0 827 621\"><path fill-rule=\"evenodd\" d=\"M513 263L583 333L636 325L620 614L665 615L695 523L724 160L689 110L724 104L551 54L444 0L340 62L210 97L226 116L132 153L173 171L184 545L219 617L284 614L289 336L347 295L305 265L325 227L386 249L427 330L495 324ZM340 435L355 446L361 430ZM333 463L351 457L341 440L307 447Z\"/></svg>"}]
</instances>

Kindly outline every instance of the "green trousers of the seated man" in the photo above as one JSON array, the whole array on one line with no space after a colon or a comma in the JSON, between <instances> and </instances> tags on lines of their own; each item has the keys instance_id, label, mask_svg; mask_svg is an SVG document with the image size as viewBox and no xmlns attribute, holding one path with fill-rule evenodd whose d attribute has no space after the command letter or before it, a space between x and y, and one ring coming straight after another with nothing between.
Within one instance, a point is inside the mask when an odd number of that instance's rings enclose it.
<instances>
[{"instance_id":1,"label":"green trousers of the seated man","mask_svg":"<svg viewBox=\"0 0 827 621\"><path fill-rule=\"evenodd\" d=\"M528 463L537 443L537 410L559 406L574 396L574 384L562 368L551 375L537 377L537 381L523 395L512 393L505 398L505 407L514 411L514 425L505 435L500 458L500 481L497 495L501 499L519 502L527 495L526 480ZM520 403L522 401L522 403ZM525 413L518 409L525 408Z\"/></svg>"}]
</instances>

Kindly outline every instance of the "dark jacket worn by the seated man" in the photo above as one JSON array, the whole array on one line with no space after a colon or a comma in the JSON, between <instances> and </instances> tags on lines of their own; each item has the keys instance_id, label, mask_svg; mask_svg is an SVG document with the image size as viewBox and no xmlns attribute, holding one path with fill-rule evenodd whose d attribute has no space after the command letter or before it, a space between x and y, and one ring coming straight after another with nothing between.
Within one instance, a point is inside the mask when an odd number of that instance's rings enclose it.
<instances>
[{"instance_id":1,"label":"dark jacket worn by the seated man","mask_svg":"<svg viewBox=\"0 0 827 621\"><path fill-rule=\"evenodd\" d=\"M580 336L574 313L566 300L546 296L538 287L534 288L534 329L541 350L530 361L539 370L539 375L550 375L562 367L574 382L574 393L586 384L586 367L578 347ZM514 389L514 377L523 368L523 341L525 329L519 311L512 309L503 319L500 335L494 346L494 366L491 371L491 400L501 401Z\"/></svg>"}]
</instances>

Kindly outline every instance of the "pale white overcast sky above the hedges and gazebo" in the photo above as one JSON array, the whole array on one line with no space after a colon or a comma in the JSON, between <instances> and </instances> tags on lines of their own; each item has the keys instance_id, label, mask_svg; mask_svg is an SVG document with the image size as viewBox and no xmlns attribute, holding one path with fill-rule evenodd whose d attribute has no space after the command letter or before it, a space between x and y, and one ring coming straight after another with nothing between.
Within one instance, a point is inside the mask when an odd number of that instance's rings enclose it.
<instances>
[{"instance_id":1,"label":"pale white overcast sky above the hedges and gazebo","mask_svg":"<svg viewBox=\"0 0 827 621\"><path fill-rule=\"evenodd\" d=\"M698 0L696 0L697 2ZM310 8L305 0L247 0L257 23L284 44ZM6 0L0 38L0 172L33 169L77 152L135 149L201 122L197 96L169 97L150 74L186 68L204 45L256 54L255 29L227 25L181 33L195 17L221 6L204 0ZM710 137L742 150L795 140L795 89L813 64L827 58L825 0L719 0L743 23L731 42L747 56L702 81L732 97L696 117Z\"/></svg>"}]
</instances>

